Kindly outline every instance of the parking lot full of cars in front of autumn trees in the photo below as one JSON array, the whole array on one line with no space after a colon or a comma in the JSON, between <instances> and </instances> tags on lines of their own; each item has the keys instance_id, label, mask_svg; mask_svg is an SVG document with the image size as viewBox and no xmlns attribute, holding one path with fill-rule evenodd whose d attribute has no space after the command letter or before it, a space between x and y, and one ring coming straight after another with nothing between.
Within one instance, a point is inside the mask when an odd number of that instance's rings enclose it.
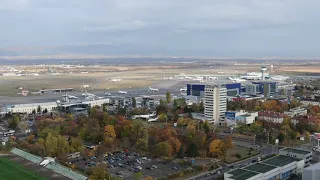
<instances>
[{"instance_id":1,"label":"parking lot full of cars in front of autumn trees","mask_svg":"<svg viewBox=\"0 0 320 180\"><path fill-rule=\"evenodd\" d=\"M188 168L185 165L173 162L165 164L159 159L152 159L135 152L124 151L106 153L100 157L78 157L69 161L69 164L75 164L78 168L85 171L99 163L107 164L109 172L123 179L134 179L134 174L137 172L142 172L143 176L160 178Z\"/></svg>"}]
</instances>

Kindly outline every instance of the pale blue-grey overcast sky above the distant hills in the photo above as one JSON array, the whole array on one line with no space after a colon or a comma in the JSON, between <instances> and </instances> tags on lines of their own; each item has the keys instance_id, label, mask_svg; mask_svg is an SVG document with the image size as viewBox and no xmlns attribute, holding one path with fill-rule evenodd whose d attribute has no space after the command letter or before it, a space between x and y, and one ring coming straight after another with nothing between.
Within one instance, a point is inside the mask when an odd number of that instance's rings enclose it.
<instances>
[{"instance_id":1,"label":"pale blue-grey overcast sky above the distant hills","mask_svg":"<svg viewBox=\"0 0 320 180\"><path fill-rule=\"evenodd\" d=\"M0 0L0 47L319 57L319 0Z\"/></svg>"}]
</instances>

